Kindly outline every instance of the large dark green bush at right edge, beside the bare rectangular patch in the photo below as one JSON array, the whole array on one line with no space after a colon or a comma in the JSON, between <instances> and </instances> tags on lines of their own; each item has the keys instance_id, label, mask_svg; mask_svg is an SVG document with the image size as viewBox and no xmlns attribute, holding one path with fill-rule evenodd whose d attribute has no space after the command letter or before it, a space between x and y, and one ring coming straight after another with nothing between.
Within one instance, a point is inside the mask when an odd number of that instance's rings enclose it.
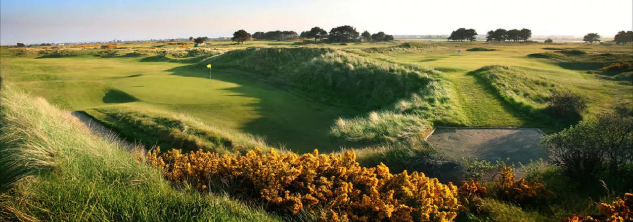
<instances>
[{"instance_id":1,"label":"large dark green bush at right edge, beside the bare rectangular patch","mask_svg":"<svg viewBox=\"0 0 633 222\"><path fill-rule=\"evenodd\" d=\"M550 161L572 178L592 178L605 170L627 174L633 164L633 117L599 114L541 141Z\"/></svg>"}]
</instances>

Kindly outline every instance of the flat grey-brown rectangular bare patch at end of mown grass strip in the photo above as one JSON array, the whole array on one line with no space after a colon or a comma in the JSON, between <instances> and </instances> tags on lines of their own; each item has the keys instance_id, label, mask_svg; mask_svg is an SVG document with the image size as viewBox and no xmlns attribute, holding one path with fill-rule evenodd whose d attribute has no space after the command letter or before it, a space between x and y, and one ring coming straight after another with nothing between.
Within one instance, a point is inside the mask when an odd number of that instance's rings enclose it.
<instances>
[{"instance_id":1,"label":"flat grey-brown rectangular bare patch at end of mown grass strip","mask_svg":"<svg viewBox=\"0 0 633 222\"><path fill-rule=\"evenodd\" d=\"M530 163L548 159L539 147L542 136L538 129L438 127L427 141L455 160L473 156L493 163L499 158Z\"/></svg>"}]
</instances>

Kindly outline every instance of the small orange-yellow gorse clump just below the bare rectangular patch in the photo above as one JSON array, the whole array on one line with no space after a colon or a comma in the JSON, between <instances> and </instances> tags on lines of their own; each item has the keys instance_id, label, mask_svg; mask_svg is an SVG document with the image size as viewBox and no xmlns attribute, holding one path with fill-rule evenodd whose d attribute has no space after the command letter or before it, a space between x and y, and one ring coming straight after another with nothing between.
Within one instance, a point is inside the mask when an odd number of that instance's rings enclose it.
<instances>
[{"instance_id":1,"label":"small orange-yellow gorse clump just below the bare rectangular patch","mask_svg":"<svg viewBox=\"0 0 633 222\"><path fill-rule=\"evenodd\" d=\"M501 177L495 182L495 185L497 187L497 196L500 199L524 205L527 202L533 202L536 199L545 198L552 194L541 182L528 181L524 178L515 180L516 175L512 166L502 166L499 175Z\"/></svg>"}]
</instances>

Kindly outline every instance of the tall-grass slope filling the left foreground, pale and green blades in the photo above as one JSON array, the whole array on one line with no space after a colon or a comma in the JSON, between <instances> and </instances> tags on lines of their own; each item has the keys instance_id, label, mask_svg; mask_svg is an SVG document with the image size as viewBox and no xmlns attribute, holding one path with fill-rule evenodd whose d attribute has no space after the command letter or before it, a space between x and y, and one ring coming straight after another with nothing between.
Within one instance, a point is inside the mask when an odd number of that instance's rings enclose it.
<instances>
[{"instance_id":1,"label":"tall-grass slope filling the left foreground, pale and green blades","mask_svg":"<svg viewBox=\"0 0 633 222\"><path fill-rule=\"evenodd\" d=\"M0 221L279 221L226 197L173 189L46 100L2 90Z\"/></svg>"}]
</instances>

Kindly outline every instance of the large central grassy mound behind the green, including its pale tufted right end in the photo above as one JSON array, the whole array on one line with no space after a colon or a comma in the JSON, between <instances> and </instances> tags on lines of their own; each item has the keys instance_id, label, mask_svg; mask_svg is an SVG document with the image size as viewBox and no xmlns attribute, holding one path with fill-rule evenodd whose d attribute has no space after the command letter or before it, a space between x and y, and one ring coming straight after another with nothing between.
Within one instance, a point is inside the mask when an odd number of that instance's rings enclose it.
<instances>
[{"instance_id":1,"label":"large central grassy mound behind the green, including its pale tufted right end","mask_svg":"<svg viewBox=\"0 0 633 222\"><path fill-rule=\"evenodd\" d=\"M338 120L332 134L348 141L394 141L426 131L426 122L463 121L448 96L448 81L423 67L327 48L249 48L201 62L207 63L256 73L268 83L355 113L382 110L380 123L365 116Z\"/></svg>"}]
</instances>

